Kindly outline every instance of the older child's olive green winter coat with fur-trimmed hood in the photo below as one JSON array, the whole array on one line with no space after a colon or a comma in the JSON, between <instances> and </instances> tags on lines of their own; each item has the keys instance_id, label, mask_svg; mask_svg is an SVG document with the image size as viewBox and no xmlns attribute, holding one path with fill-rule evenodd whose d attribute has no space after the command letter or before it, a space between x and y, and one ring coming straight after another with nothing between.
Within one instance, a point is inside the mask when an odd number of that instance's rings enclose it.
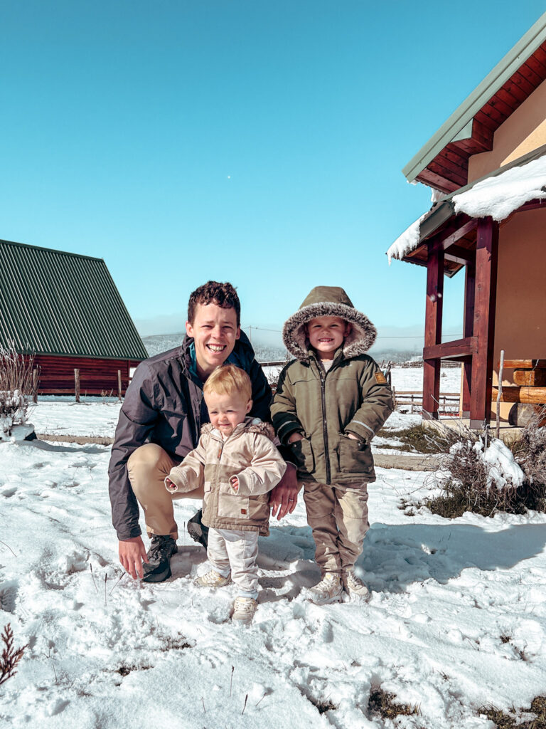
<instances>
[{"instance_id":1,"label":"older child's olive green winter coat with fur-trimmed hood","mask_svg":"<svg viewBox=\"0 0 546 729\"><path fill-rule=\"evenodd\" d=\"M306 342L305 324L317 316L341 316L352 327L327 372ZM293 432L304 436L290 445L300 480L355 486L375 480L370 442L392 412L392 392L364 354L375 337L373 324L333 286L313 289L286 322L283 339L298 359L282 370L272 420L281 443Z\"/></svg>"}]
</instances>

